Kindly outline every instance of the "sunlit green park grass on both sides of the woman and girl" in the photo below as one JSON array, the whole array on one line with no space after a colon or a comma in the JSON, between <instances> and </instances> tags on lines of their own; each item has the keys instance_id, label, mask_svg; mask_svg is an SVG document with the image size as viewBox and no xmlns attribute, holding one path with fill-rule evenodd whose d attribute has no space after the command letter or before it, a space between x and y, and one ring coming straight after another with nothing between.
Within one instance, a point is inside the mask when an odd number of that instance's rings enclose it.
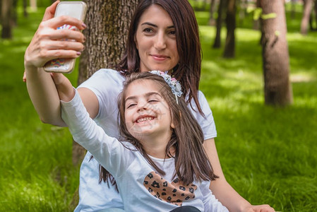
<instances>
[{"instance_id":1,"label":"sunlit green park grass on both sides of the woman and girl","mask_svg":"<svg viewBox=\"0 0 317 212\"><path fill-rule=\"evenodd\" d=\"M38 0L24 18L18 1L13 38L0 40L0 211L71 211L79 184L71 134L40 122L22 81L23 54L49 4ZM294 18L285 5L294 98L287 107L265 105L261 33L252 29L252 15L237 21L235 57L225 59L225 24L222 47L213 49L208 5L194 6L203 47L200 90L213 110L227 181L251 204L316 211L317 32L299 33L301 2ZM77 68L67 76L76 85Z\"/></svg>"}]
</instances>

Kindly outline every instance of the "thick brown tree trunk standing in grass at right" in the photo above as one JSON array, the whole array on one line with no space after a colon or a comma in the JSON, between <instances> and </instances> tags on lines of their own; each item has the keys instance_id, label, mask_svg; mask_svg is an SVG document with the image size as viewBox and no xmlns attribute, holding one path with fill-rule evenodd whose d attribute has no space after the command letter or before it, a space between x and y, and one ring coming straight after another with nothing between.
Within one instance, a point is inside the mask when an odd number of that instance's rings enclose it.
<instances>
[{"instance_id":1,"label":"thick brown tree trunk standing in grass at right","mask_svg":"<svg viewBox=\"0 0 317 212\"><path fill-rule=\"evenodd\" d=\"M284 0L259 0L259 4L263 9L263 15L276 14L276 18L261 19L265 104L290 105L292 87L289 82Z\"/></svg>"}]
</instances>

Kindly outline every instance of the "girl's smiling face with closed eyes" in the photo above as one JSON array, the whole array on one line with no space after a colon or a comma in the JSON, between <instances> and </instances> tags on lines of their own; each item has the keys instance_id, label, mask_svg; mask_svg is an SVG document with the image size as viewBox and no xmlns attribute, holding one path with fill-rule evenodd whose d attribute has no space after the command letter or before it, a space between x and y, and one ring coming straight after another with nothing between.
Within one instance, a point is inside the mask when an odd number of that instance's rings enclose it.
<instances>
[{"instance_id":1,"label":"girl's smiling face with closed eyes","mask_svg":"<svg viewBox=\"0 0 317 212\"><path fill-rule=\"evenodd\" d=\"M138 141L154 140L157 136L169 141L172 136L174 124L161 89L158 83L148 79L134 81L126 89L126 128Z\"/></svg>"}]
</instances>

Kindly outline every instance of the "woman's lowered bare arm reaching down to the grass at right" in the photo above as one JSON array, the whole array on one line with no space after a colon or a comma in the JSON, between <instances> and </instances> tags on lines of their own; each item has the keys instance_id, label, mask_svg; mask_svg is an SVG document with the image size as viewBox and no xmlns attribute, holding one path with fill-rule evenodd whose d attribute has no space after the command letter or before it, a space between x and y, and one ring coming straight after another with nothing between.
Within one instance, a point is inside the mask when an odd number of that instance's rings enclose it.
<instances>
[{"instance_id":1,"label":"woman's lowered bare arm reaching down to the grass at right","mask_svg":"<svg viewBox=\"0 0 317 212\"><path fill-rule=\"evenodd\" d=\"M240 196L227 182L225 175L222 172L220 160L218 158L215 139L205 140L203 143L208 158L213 165L213 170L217 178L210 183L210 190L216 198L226 206L229 211L246 211L246 212L273 212L274 208L269 205L252 206L249 201L246 201Z\"/></svg>"}]
</instances>

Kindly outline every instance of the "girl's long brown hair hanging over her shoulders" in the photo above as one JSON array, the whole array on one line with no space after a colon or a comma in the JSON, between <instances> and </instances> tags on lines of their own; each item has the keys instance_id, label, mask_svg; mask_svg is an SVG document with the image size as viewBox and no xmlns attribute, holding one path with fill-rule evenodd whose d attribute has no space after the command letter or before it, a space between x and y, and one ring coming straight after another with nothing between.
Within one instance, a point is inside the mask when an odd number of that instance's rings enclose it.
<instances>
[{"instance_id":1,"label":"girl's long brown hair hanging over her shoulders","mask_svg":"<svg viewBox=\"0 0 317 212\"><path fill-rule=\"evenodd\" d=\"M157 76L156 74L148 72L131 73L131 75L127 76L124 90L122 90L118 102L119 129L124 140L132 143L133 146L140 151L143 157L148 160L148 163L160 173L160 175L165 175L165 172L160 170L155 162L153 162L149 155L144 151L142 144L134 138L126 128L124 117L126 89L128 86L131 86L131 83L140 80L150 80L153 81L153 83L157 83L161 88L160 94L165 98L165 101L169 105L172 122L174 123L175 128L172 132L170 141L167 143L165 157L167 158L168 155L170 155L170 150L174 147L175 155L173 155L173 157L176 170L174 177L179 177L184 184L192 183L194 180L203 181L216 179L217 176L214 174L213 167L203 148L203 131L201 130L201 126L199 126L195 117L193 117L193 114L187 107L183 97L178 98L177 104L175 95L172 93L171 88L162 76Z\"/></svg>"}]
</instances>

